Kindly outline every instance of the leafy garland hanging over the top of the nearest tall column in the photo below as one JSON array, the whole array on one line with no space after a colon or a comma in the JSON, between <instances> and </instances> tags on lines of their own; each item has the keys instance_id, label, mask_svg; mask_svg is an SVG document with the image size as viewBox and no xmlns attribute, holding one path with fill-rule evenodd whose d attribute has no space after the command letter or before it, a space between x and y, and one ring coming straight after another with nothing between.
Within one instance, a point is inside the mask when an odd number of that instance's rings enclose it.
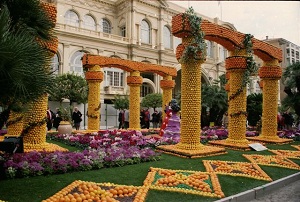
<instances>
[{"instance_id":1,"label":"leafy garland hanging over the top of the nearest tall column","mask_svg":"<svg viewBox=\"0 0 300 202\"><path fill-rule=\"evenodd\" d=\"M190 7L183 15L183 25L189 21L191 28L192 41L185 46L184 52L180 58L180 63L187 62L190 58L204 61L206 58L206 43L204 41L204 33L201 31L201 17L196 16L194 9Z\"/></svg>"}]
</instances>

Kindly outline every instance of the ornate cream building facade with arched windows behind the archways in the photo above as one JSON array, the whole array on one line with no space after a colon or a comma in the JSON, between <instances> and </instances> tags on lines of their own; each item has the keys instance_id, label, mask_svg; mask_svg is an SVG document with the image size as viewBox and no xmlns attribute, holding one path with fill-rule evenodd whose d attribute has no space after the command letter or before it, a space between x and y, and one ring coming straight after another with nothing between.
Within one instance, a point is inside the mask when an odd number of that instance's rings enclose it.
<instances>
[{"instance_id":1,"label":"ornate cream building facade with arched windows behind the archways","mask_svg":"<svg viewBox=\"0 0 300 202\"><path fill-rule=\"evenodd\" d=\"M173 96L180 92L181 66L175 51L181 39L172 35L172 16L185 12L168 1L147 0L48 0L57 6L55 34L58 37L58 52L53 58L52 68L56 74L74 72L82 75L81 57L85 53L126 60L147 62L175 67ZM236 30L218 18L203 19ZM227 50L221 45L206 41L207 58L202 65L202 83L211 84L225 73L224 60ZM117 110L111 105L116 94L126 95L128 73L115 67L103 68L101 83L101 128L118 125ZM149 93L162 93L159 86L161 76L143 73L141 98ZM49 103L54 108L56 103ZM87 106L79 105L85 113ZM82 128L87 117L84 118Z\"/></svg>"}]
</instances>

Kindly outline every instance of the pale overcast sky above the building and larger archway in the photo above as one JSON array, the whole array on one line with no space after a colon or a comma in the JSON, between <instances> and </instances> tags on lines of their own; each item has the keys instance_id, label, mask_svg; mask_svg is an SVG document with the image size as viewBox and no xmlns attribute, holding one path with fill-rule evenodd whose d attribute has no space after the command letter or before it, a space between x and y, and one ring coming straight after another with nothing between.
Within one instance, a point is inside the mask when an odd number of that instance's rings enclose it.
<instances>
[{"instance_id":1,"label":"pale overcast sky above the building and larger archway","mask_svg":"<svg viewBox=\"0 0 300 202\"><path fill-rule=\"evenodd\" d=\"M234 25L263 40L283 38L300 46L300 1L170 1Z\"/></svg>"}]
</instances>

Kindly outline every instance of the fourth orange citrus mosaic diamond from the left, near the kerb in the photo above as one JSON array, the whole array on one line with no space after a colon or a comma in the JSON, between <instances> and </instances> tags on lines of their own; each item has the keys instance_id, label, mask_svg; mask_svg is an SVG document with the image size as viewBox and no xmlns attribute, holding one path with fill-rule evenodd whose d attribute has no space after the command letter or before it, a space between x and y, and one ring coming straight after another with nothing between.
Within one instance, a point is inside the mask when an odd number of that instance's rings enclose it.
<instances>
[{"instance_id":1,"label":"fourth orange citrus mosaic diamond from the left, near the kerb","mask_svg":"<svg viewBox=\"0 0 300 202\"><path fill-rule=\"evenodd\" d=\"M300 166L281 155L246 155L243 156L252 163L265 166L283 167L300 170Z\"/></svg>"}]
</instances>

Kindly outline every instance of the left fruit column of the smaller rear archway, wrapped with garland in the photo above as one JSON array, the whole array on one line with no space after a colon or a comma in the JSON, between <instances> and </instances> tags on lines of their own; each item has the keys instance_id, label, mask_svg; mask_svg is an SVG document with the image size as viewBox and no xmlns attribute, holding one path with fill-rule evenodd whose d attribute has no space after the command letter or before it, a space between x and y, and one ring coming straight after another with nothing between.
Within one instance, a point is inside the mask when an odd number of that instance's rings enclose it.
<instances>
[{"instance_id":1,"label":"left fruit column of the smaller rear archway, wrapped with garland","mask_svg":"<svg viewBox=\"0 0 300 202\"><path fill-rule=\"evenodd\" d=\"M85 72L85 78L89 86L88 94L88 130L100 129L100 84L103 81L103 72L100 66L95 65Z\"/></svg>"}]
</instances>

